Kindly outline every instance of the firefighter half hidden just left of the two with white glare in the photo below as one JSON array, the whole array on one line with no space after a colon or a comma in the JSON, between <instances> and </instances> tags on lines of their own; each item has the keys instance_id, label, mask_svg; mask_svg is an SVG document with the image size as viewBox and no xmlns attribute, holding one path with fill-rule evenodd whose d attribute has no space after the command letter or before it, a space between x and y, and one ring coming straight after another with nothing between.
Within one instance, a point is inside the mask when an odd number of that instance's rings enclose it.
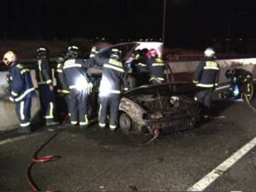
<instances>
[{"instance_id":1,"label":"firefighter half hidden just left of the two with white glare","mask_svg":"<svg viewBox=\"0 0 256 192\"><path fill-rule=\"evenodd\" d=\"M63 72L63 67L64 67L64 62L66 61L66 56L64 54L61 54L56 59L57 66L56 69L54 70L54 77L56 78L56 88L57 88L57 96L60 98L62 101L62 98L64 98L64 108L69 111L69 102L70 102L70 96L69 96L69 86L67 85L66 77ZM59 101L60 102L60 101ZM63 107L63 105L58 104L58 109L61 111L60 107Z\"/></svg>"}]
</instances>

